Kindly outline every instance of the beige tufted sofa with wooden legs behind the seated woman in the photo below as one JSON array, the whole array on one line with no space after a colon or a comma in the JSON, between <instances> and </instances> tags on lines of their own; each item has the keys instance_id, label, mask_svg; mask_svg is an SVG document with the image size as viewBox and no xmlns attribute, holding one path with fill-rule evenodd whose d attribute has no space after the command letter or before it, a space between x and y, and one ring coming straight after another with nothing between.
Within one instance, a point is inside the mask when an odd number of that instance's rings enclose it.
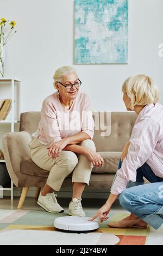
<instances>
[{"instance_id":1,"label":"beige tufted sofa with wooden legs behind the seated woman","mask_svg":"<svg viewBox=\"0 0 163 256\"><path fill-rule=\"evenodd\" d=\"M136 114L133 112L93 112L95 118L95 142L97 152L104 159L103 167L93 167L89 188L110 189L117 170L124 144L129 140ZM111 118L111 119L110 119ZM28 143L40 121L40 112L21 113L20 131L3 136L4 157L9 175L17 187L23 187L18 209L22 208L29 187L36 187L36 198L47 180L49 172L36 166L30 159ZM111 127L111 130L110 128ZM108 134L104 135L104 129ZM107 133L107 132L106 132ZM71 175L64 187L71 186Z\"/></svg>"}]
</instances>

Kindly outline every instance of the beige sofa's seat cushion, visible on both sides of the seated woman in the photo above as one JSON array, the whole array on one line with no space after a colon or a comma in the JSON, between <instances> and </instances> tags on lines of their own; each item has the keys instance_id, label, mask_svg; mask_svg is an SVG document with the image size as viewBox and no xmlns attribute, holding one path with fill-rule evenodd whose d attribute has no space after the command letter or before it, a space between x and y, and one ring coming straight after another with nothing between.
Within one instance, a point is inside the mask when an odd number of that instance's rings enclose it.
<instances>
[{"instance_id":1,"label":"beige sofa's seat cushion, visible on both sides of the seated woman","mask_svg":"<svg viewBox=\"0 0 163 256\"><path fill-rule=\"evenodd\" d=\"M92 173L115 173L118 166L118 161L121 157L121 152L99 152L104 159L103 167L93 167ZM21 173L48 177L49 172L37 166L30 157L26 157L21 161Z\"/></svg>"}]
</instances>

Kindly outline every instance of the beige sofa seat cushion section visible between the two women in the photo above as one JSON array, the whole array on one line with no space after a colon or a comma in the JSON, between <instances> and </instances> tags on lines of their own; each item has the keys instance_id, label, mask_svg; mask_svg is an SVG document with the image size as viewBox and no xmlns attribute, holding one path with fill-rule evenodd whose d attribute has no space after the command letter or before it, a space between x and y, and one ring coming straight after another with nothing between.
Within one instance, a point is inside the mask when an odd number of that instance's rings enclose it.
<instances>
[{"instance_id":1,"label":"beige sofa seat cushion section visible between the two women","mask_svg":"<svg viewBox=\"0 0 163 256\"><path fill-rule=\"evenodd\" d=\"M104 160L101 167L93 167L92 173L116 173L121 152L98 152Z\"/></svg>"}]
</instances>

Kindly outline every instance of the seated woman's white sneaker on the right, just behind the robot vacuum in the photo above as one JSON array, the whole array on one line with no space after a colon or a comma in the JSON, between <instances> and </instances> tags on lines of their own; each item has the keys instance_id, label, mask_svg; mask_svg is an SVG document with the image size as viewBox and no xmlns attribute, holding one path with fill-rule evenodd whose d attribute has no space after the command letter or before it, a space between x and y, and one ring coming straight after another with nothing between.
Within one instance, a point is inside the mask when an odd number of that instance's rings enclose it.
<instances>
[{"instance_id":1,"label":"seated woman's white sneaker on the right, just behind the robot vacuum","mask_svg":"<svg viewBox=\"0 0 163 256\"><path fill-rule=\"evenodd\" d=\"M68 207L69 215L85 217L85 212L83 211L81 201L82 201L82 198L72 199Z\"/></svg>"}]
</instances>

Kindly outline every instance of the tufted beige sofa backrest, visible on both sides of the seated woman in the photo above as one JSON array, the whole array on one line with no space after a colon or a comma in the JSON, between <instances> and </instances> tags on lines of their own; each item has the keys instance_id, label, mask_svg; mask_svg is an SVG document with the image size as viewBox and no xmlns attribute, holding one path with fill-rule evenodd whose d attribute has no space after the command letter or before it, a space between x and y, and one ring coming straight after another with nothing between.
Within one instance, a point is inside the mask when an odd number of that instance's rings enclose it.
<instances>
[{"instance_id":1,"label":"tufted beige sofa backrest, visible on both sides of the seated woman","mask_svg":"<svg viewBox=\"0 0 163 256\"><path fill-rule=\"evenodd\" d=\"M20 131L30 135L37 130L41 118L40 112L21 113ZM95 120L95 142L98 152L121 152L124 144L129 141L136 114L134 112L93 112Z\"/></svg>"}]
</instances>

